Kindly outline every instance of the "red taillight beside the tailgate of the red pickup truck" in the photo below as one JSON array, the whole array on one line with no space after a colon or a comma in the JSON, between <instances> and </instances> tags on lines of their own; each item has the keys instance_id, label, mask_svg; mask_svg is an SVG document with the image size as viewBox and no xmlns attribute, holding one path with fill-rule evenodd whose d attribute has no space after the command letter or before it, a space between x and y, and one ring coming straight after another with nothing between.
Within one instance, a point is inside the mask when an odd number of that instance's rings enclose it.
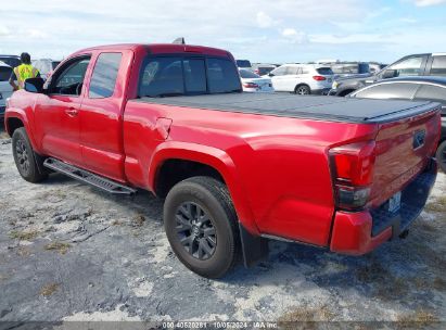
<instances>
[{"instance_id":1,"label":"red taillight beside the tailgate of the red pickup truck","mask_svg":"<svg viewBox=\"0 0 446 330\"><path fill-rule=\"evenodd\" d=\"M375 161L375 143L360 142L330 150L337 207L357 210L370 198Z\"/></svg>"}]
</instances>

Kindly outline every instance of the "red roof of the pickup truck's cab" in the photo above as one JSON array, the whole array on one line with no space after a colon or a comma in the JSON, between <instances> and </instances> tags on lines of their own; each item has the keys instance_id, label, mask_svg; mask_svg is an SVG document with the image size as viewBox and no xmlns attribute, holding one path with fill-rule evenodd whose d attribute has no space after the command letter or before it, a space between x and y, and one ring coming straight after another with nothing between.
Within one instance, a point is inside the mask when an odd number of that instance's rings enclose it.
<instances>
[{"instance_id":1,"label":"red roof of the pickup truck's cab","mask_svg":"<svg viewBox=\"0 0 446 330\"><path fill-rule=\"evenodd\" d=\"M85 53L93 50L102 51L116 51L116 50L132 50L141 51L149 50L151 53L199 53L199 54L209 54L217 56L230 56L230 53L226 50L204 47L204 46L193 46L193 45L178 45L178 43L117 43L117 45L104 45L86 48L77 51L75 54Z\"/></svg>"}]
</instances>

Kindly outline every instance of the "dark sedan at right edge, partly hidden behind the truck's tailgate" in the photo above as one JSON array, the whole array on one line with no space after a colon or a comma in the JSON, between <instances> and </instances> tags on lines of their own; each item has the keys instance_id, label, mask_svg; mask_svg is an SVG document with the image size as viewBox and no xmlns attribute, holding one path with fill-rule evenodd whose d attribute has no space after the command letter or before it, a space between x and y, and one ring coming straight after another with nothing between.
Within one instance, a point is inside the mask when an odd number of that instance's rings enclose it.
<instances>
[{"instance_id":1,"label":"dark sedan at right edge, partly hidden behind the truck's tailgate","mask_svg":"<svg viewBox=\"0 0 446 330\"><path fill-rule=\"evenodd\" d=\"M446 173L446 76L393 78L359 89L348 97L359 99L388 99L434 101L442 106L442 136L436 158Z\"/></svg>"}]
</instances>

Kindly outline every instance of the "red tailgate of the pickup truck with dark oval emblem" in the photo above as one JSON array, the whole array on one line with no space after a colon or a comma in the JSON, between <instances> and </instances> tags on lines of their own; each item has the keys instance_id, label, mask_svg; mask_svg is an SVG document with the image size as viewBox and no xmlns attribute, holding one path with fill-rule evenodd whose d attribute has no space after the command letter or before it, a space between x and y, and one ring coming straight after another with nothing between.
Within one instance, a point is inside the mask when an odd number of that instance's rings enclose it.
<instances>
[{"instance_id":1,"label":"red tailgate of the pickup truck with dark oval emblem","mask_svg":"<svg viewBox=\"0 0 446 330\"><path fill-rule=\"evenodd\" d=\"M380 124L375 138L372 207L402 191L433 156L439 138L441 110L432 109L397 122Z\"/></svg>"}]
</instances>

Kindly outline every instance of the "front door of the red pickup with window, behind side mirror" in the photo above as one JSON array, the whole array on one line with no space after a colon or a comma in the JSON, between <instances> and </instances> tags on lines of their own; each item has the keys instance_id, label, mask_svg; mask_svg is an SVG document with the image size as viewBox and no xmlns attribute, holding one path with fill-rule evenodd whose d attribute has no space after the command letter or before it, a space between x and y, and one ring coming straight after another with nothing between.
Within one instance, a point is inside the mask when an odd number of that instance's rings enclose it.
<instances>
[{"instance_id":1,"label":"front door of the red pickup with window, behind side mirror","mask_svg":"<svg viewBox=\"0 0 446 330\"><path fill-rule=\"evenodd\" d=\"M38 141L43 153L80 166L79 109L89 63L90 55L86 54L63 64L35 107Z\"/></svg>"}]
</instances>

